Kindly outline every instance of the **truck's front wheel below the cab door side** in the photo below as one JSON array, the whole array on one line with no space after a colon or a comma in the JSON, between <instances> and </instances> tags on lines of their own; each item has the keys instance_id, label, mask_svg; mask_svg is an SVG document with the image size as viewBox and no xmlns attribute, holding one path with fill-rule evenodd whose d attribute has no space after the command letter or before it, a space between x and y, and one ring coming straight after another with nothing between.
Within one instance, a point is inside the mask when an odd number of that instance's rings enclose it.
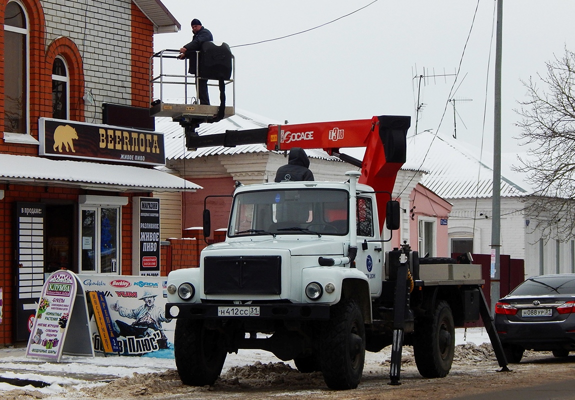
<instances>
[{"instance_id":1,"label":"truck's front wheel below the cab door side","mask_svg":"<svg viewBox=\"0 0 575 400\"><path fill-rule=\"evenodd\" d=\"M331 307L331 317L321 329L320 362L330 389L355 389L363 374L365 325L355 300Z\"/></svg>"}]
</instances>

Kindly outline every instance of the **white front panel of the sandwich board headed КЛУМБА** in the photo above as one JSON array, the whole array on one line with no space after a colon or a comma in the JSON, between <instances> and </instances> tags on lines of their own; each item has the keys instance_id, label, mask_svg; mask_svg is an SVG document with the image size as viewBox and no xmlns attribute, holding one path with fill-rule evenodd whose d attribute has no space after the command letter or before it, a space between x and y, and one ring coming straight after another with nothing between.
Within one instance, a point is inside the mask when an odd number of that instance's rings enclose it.
<instances>
[{"instance_id":1,"label":"white front panel of the sandwich board headed \u041a\u041b\u0423\u041c\u0411\u0410","mask_svg":"<svg viewBox=\"0 0 575 400\"><path fill-rule=\"evenodd\" d=\"M49 276L36 310L26 355L60 361L77 289L76 278L70 271L56 271Z\"/></svg>"}]
</instances>

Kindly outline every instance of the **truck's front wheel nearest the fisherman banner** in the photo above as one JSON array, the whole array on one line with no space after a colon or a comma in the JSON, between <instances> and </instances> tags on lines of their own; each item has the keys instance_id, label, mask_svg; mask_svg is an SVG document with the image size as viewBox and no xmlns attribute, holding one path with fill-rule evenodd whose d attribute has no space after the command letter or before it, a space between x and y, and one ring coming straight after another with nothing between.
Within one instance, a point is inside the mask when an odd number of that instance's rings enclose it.
<instances>
[{"instance_id":1,"label":"truck's front wheel nearest the fisherman banner","mask_svg":"<svg viewBox=\"0 0 575 400\"><path fill-rule=\"evenodd\" d=\"M206 329L204 321L179 318L174 333L174 357L183 384L213 385L224 366L221 333Z\"/></svg>"}]
</instances>

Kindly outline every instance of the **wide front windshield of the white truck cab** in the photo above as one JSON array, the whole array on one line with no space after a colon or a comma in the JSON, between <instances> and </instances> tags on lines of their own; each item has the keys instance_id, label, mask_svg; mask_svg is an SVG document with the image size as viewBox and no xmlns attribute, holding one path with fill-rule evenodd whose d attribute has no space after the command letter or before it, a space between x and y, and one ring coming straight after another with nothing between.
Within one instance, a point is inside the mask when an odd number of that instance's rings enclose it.
<instances>
[{"instance_id":1,"label":"wide front windshield of the white truck cab","mask_svg":"<svg viewBox=\"0 0 575 400\"><path fill-rule=\"evenodd\" d=\"M233 200L228 236L348 233L348 193L337 189L248 191Z\"/></svg>"}]
</instances>

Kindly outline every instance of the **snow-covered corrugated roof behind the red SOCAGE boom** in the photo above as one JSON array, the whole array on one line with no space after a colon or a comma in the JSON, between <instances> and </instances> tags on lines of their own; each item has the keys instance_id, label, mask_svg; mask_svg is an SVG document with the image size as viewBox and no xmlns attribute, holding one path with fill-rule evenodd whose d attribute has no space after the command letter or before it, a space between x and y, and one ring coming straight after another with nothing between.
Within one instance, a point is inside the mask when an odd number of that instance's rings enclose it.
<instances>
[{"instance_id":1,"label":"snow-covered corrugated roof behind the red SOCAGE boom","mask_svg":"<svg viewBox=\"0 0 575 400\"><path fill-rule=\"evenodd\" d=\"M282 122L236 108L235 115L213 124L201 124L196 132L200 135L215 134L224 133L226 130L267 128L268 125L272 124L281 125ZM196 159L204 156L243 153L267 153L269 151L263 144L245 144L236 147L214 146L188 151L182 126L177 122L173 122L170 117L157 117L156 130L164 133L164 147L167 160ZM329 156L328 153L321 149L306 149L305 152L310 158L341 161L338 157Z\"/></svg>"}]
</instances>

